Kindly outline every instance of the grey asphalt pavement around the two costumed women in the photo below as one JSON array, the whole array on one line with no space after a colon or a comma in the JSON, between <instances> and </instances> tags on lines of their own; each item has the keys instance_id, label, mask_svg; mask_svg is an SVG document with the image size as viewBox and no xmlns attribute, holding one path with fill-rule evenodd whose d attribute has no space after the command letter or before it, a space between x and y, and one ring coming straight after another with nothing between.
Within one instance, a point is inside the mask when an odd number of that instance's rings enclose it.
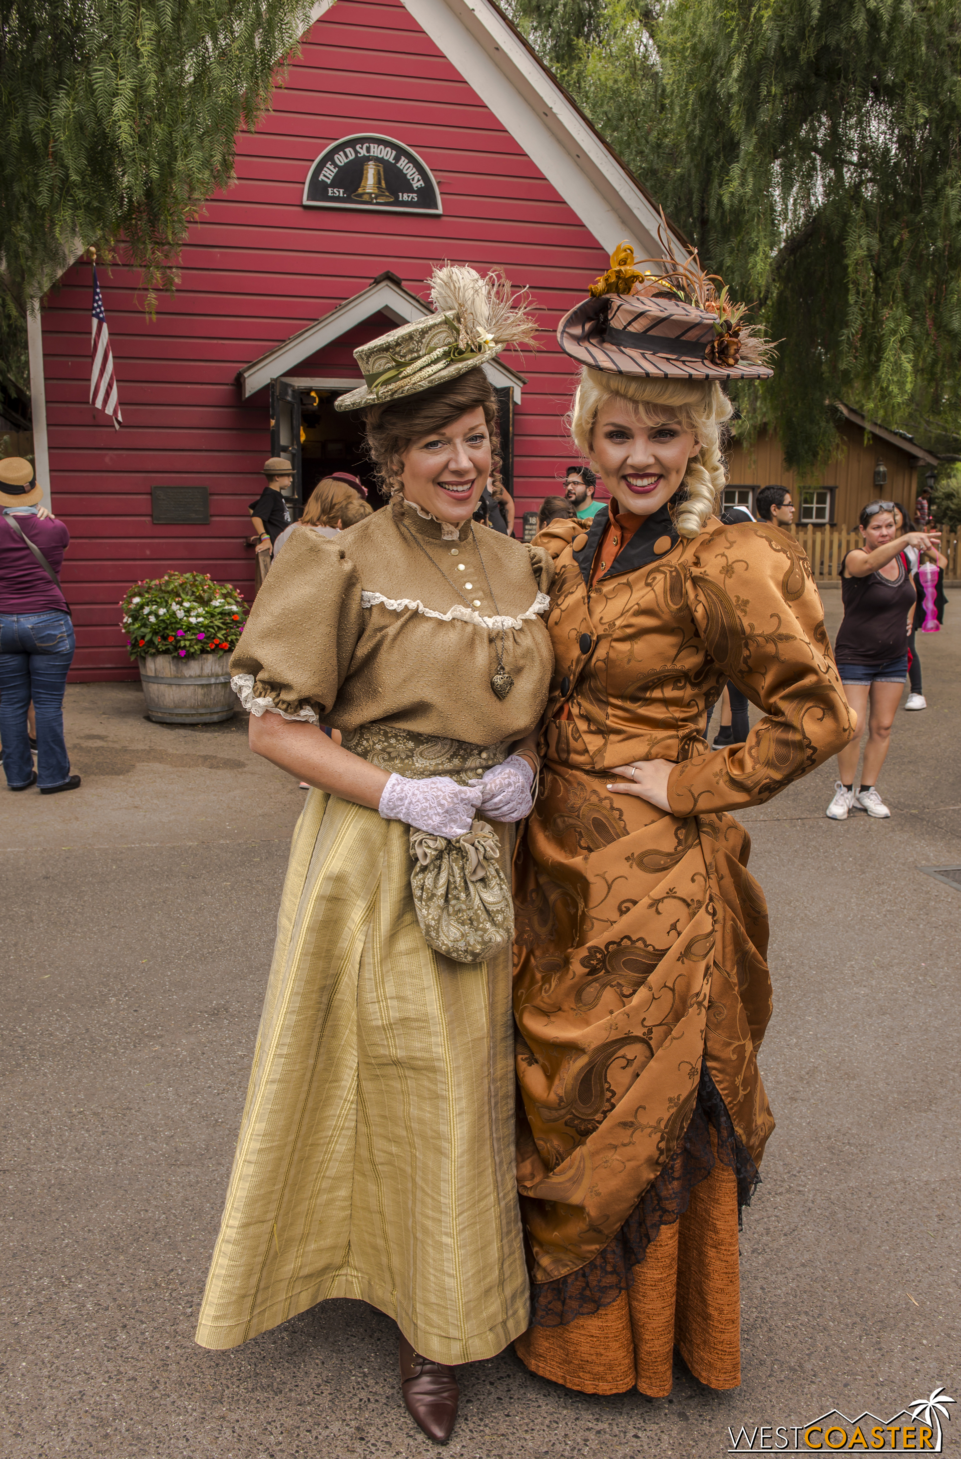
<instances>
[{"instance_id":1,"label":"grey asphalt pavement around the two costumed women","mask_svg":"<svg viewBox=\"0 0 961 1459\"><path fill-rule=\"evenodd\" d=\"M589 1398L507 1351L461 1369L449 1455L713 1459L729 1427L884 1418L942 1385L961 1401L961 887L919 870L961 865L954 597L922 642L930 708L897 716L891 820L828 821L834 763L742 816L771 913L777 1129L741 1243L741 1388L678 1361L668 1399ZM0 786L0 1455L436 1453L400 1401L397 1329L362 1303L229 1352L192 1341L303 792L239 718L143 713L137 684L73 686L82 788Z\"/></svg>"}]
</instances>

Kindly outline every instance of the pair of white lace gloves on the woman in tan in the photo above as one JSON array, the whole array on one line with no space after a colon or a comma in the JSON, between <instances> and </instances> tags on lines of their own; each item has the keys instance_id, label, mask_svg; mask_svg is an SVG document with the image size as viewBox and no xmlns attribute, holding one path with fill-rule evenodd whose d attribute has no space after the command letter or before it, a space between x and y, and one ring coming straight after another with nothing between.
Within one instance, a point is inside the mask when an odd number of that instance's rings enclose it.
<instances>
[{"instance_id":1,"label":"pair of white lace gloves on the woman in tan","mask_svg":"<svg viewBox=\"0 0 961 1459\"><path fill-rule=\"evenodd\" d=\"M384 820L402 820L432 836L467 836L474 813L489 820L515 821L531 811L534 770L519 754L509 754L503 765L486 770L480 781L458 785L448 775L410 781L392 775L384 786L378 810Z\"/></svg>"}]
</instances>

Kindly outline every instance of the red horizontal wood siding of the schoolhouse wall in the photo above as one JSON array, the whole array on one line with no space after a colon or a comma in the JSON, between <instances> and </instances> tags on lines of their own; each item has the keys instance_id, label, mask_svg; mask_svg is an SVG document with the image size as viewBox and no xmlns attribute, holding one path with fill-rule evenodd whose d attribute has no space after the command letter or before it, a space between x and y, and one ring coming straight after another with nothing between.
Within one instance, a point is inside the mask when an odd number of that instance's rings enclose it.
<instances>
[{"instance_id":1,"label":"red horizontal wood siding of the schoolhouse wall","mask_svg":"<svg viewBox=\"0 0 961 1459\"><path fill-rule=\"evenodd\" d=\"M443 214L305 209L314 159L351 131L413 147ZM139 274L99 270L124 411L115 432L89 406L90 271L74 266L42 311L54 511L71 533L64 588L77 626L76 680L136 677L118 601L168 569L210 572L252 595L248 503L270 449L267 391L241 401L236 374L389 268L426 298L435 263L502 267L528 287L538 352L507 352L528 384L515 411L518 511L560 490L573 460L561 417L573 371L560 315L605 258L596 241L398 0L341 0L319 20L257 133L238 137L236 184L190 229L176 292L155 320ZM353 349L384 317L296 368L356 376ZM155 525L150 487L206 484L210 525Z\"/></svg>"}]
</instances>

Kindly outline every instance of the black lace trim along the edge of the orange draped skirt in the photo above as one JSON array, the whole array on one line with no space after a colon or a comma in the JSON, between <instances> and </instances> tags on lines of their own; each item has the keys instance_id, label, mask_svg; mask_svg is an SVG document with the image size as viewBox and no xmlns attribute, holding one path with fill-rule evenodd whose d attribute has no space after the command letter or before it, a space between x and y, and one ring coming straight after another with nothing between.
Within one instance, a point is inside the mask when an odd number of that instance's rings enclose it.
<instances>
[{"instance_id":1,"label":"black lace trim along the edge of the orange draped skirt","mask_svg":"<svg viewBox=\"0 0 961 1459\"><path fill-rule=\"evenodd\" d=\"M710 1142L710 1128L717 1137L717 1156ZM680 1220L690 1205L691 1191L706 1180L719 1158L734 1170L738 1182L738 1226L741 1212L751 1204L760 1182L757 1166L738 1139L731 1115L717 1087L701 1062L694 1113L671 1160L653 1180L602 1252L569 1277L531 1282L531 1326L561 1328L575 1317L588 1317L617 1301L634 1280L647 1246L662 1226Z\"/></svg>"}]
</instances>

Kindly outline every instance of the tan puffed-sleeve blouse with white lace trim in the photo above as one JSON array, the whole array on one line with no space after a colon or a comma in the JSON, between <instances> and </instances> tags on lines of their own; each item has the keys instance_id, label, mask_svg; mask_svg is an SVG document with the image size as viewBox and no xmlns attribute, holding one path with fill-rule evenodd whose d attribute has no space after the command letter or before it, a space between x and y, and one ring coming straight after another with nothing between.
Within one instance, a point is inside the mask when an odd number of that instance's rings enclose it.
<instances>
[{"instance_id":1,"label":"tan puffed-sleeve blouse with white lace trim","mask_svg":"<svg viewBox=\"0 0 961 1459\"><path fill-rule=\"evenodd\" d=\"M400 521L386 508L331 540L295 531L230 659L233 687L252 713L343 732L521 738L547 702L553 575L542 549L410 503ZM503 700L490 686L502 641L513 678Z\"/></svg>"}]
</instances>

